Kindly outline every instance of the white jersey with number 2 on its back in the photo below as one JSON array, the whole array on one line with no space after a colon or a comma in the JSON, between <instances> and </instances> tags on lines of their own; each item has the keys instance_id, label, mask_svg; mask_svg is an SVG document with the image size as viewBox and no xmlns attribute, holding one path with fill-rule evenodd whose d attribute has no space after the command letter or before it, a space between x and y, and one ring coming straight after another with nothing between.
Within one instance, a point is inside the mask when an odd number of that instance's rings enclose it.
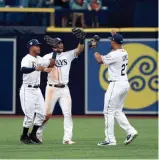
<instances>
[{"instance_id":1,"label":"white jersey with number 2 on its back","mask_svg":"<svg viewBox=\"0 0 159 160\"><path fill-rule=\"evenodd\" d=\"M101 56L105 65L108 65L109 81L125 81L127 77L128 53L124 49L117 49Z\"/></svg>"}]
</instances>

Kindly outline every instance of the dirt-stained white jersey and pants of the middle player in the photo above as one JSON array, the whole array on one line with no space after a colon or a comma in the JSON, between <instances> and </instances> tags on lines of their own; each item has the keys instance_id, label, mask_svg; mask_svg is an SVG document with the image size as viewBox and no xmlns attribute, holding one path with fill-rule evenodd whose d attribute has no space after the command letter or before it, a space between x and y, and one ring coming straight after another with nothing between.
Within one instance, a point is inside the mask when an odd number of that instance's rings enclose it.
<instances>
[{"instance_id":1,"label":"dirt-stained white jersey and pants of the middle player","mask_svg":"<svg viewBox=\"0 0 159 160\"><path fill-rule=\"evenodd\" d=\"M53 53L47 54L43 59L50 59ZM64 137L63 141L72 140L72 100L67 83L69 82L69 71L71 62L76 58L76 51L71 50L57 54L54 68L48 73L48 82L45 92L46 115L52 114L55 104L58 101L64 115ZM50 86L50 84L65 84L64 88ZM37 136L42 138L43 127L40 127Z\"/></svg>"}]
</instances>

